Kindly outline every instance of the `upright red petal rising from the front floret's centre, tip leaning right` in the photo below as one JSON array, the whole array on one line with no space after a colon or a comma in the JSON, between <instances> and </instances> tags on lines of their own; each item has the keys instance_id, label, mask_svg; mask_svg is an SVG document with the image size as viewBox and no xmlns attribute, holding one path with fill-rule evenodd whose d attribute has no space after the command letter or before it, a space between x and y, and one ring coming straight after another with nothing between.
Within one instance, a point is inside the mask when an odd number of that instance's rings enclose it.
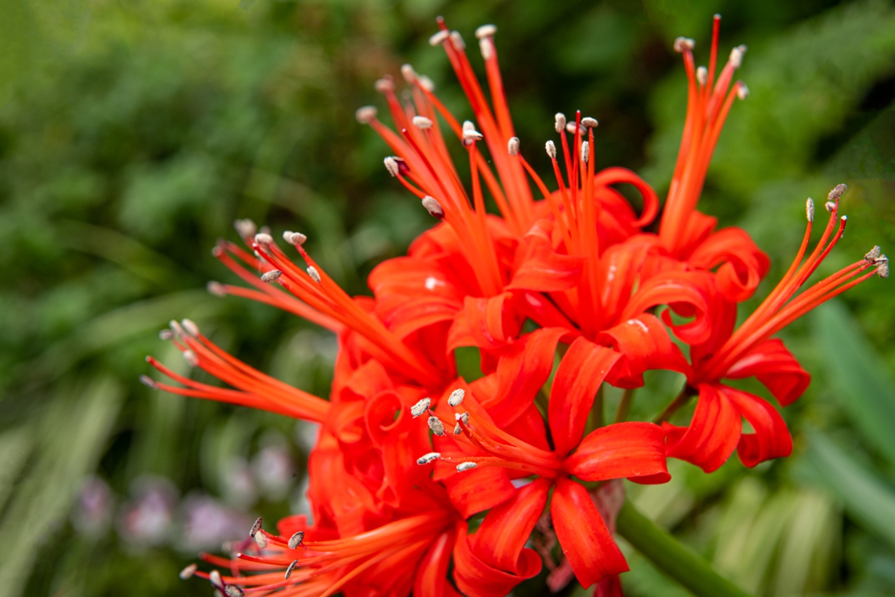
<instances>
[{"instance_id":1,"label":"upright red petal rising from the front floret's centre, tip leaning right","mask_svg":"<svg viewBox=\"0 0 895 597\"><path fill-rule=\"evenodd\" d=\"M619 356L584 337L569 346L553 379L548 406L550 433L558 454L568 454L581 440L597 389Z\"/></svg>"}]
</instances>

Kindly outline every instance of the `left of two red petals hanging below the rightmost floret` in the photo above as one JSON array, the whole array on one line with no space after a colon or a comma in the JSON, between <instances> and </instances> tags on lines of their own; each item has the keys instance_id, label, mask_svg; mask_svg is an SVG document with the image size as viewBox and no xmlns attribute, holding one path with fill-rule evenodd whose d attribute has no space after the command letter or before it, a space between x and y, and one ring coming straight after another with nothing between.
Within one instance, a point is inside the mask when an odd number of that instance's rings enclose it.
<instances>
[{"instance_id":1,"label":"left of two red petals hanging below the rightmost floret","mask_svg":"<svg viewBox=\"0 0 895 597\"><path fill-rule=\"evenodd\" d=\"M699 398L688 427L663 423L665 452L712 473L727 462L743 433L739 410L713 384L699 386Z\"/></svg>"}]
</instances>

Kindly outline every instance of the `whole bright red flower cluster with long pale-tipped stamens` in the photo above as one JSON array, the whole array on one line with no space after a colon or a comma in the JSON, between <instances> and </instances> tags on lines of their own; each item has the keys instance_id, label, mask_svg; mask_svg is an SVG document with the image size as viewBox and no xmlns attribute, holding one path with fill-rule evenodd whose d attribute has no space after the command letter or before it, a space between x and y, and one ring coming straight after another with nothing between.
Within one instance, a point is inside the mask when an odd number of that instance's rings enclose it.
<instances>
[{"instance_id":1,"label":"whole bright red flower cluster with long pale-tipped stamens","mask_svg":"<svg viewBox=\"0 0 895 597\"><path fill-rule=\"evenodd\" d=\"M498 597L543 563L551 586L574 573L585 587L605 580L601 587L617 591L614 576L627 566L596 483L666 482L667 456L705 471L734 450L747 466L788 456L792 441L776 407L725 380L754 377L780 405L795 400L809 376L773 335L874 273L885 277L888 261L874 248L797 294L842 235L840 185L814 250L809 199L796 260L736 328L737 303L754 294L769 261L745 231L717 230L715 218L696 210L721 126L746 97L746 86L732 82L745 47L731 51L716 77L718 24L708 68L695 68L692 40L675 42L689 100L658 233L645 227L659 213L652 188L625 169L596 171L593 118L556 115L558 141L546 145L557 183L550 191L515 136L496 29L476 31L489 103L463 39L440 21L431 43L447 52L475 124L457 122L409 65L402 73L412 102L396 98L391 79L377 85L396 131L372 107L357 113L393 150L388 171L442 220L407 256L371 273L373 297L345 294L304 250L304 235L283 235L300 267L270 235L237 223L251 252L220 243L216 254L251 288L214 283L212 292L294 312L336 333L339 351L324 400L234 359L191 321L166 332L188 362L231 388L153 359L181 385L147 378L149 385L321 425L309 462L313 523L292 516L268 533L259 521L254 541L233 558L204 557L228 575L196 574L227 595ZM469 186L450 158L451 138L468 156ZM640 193L639 215L619 183ZM486 191L499 215L487 213ZM481 354L481 378L458 377L455 350L463 346ZM604 424L602 384L638 388L655 369L686 375L661 425ZM666 422L694 396L688 425ZM752 431L743 432L744 419ZM551 550L557 543L561 553Z\"/></svg>"}]
</instances>

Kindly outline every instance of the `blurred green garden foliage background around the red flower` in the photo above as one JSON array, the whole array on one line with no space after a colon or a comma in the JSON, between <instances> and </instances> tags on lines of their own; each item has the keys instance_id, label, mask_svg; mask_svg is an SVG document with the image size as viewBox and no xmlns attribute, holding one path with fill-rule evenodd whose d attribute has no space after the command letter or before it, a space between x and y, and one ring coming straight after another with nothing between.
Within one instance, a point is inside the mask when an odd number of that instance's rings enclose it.
<instances>
[{"instance_id":1,"label":"blurred green garden foliage background around the red flower","mask_svg":"<svg viewBox=\"0 0 895 597\"><path fill-rule=\"evenodd\" d=\"M411 62L468 115L434 18L499 26L523 149L558 110L600 120L598 166L667 190L686 106L671 50L712 13L749 46L702 208L744 226L780 277L804 201L848 183L823 270L895 247L895 7L882 0L93 0L0 3L0 594L209 594L177 572L251 520L307 508L313 430L141 386L170 319L326 396L335 343L294 317L207 294L232 222L301 230L353 294L429 224L354 109ZM479 64L473 57L473 63ZM823 205L823 202L821 203ZM765 285L759 295L771 286ZM750 592L895 587L895 292L874 279L784 337L814 373L784 461L704 475L676 463L636 503ZM185 369L185 367L183 368ZM657 375L644 416L677 393ZM630 595L686 595L631 550ZM567 593L575 592L570 587ZM524 593L524 589L520 591Z\"/></svg>"}]
</instances>

